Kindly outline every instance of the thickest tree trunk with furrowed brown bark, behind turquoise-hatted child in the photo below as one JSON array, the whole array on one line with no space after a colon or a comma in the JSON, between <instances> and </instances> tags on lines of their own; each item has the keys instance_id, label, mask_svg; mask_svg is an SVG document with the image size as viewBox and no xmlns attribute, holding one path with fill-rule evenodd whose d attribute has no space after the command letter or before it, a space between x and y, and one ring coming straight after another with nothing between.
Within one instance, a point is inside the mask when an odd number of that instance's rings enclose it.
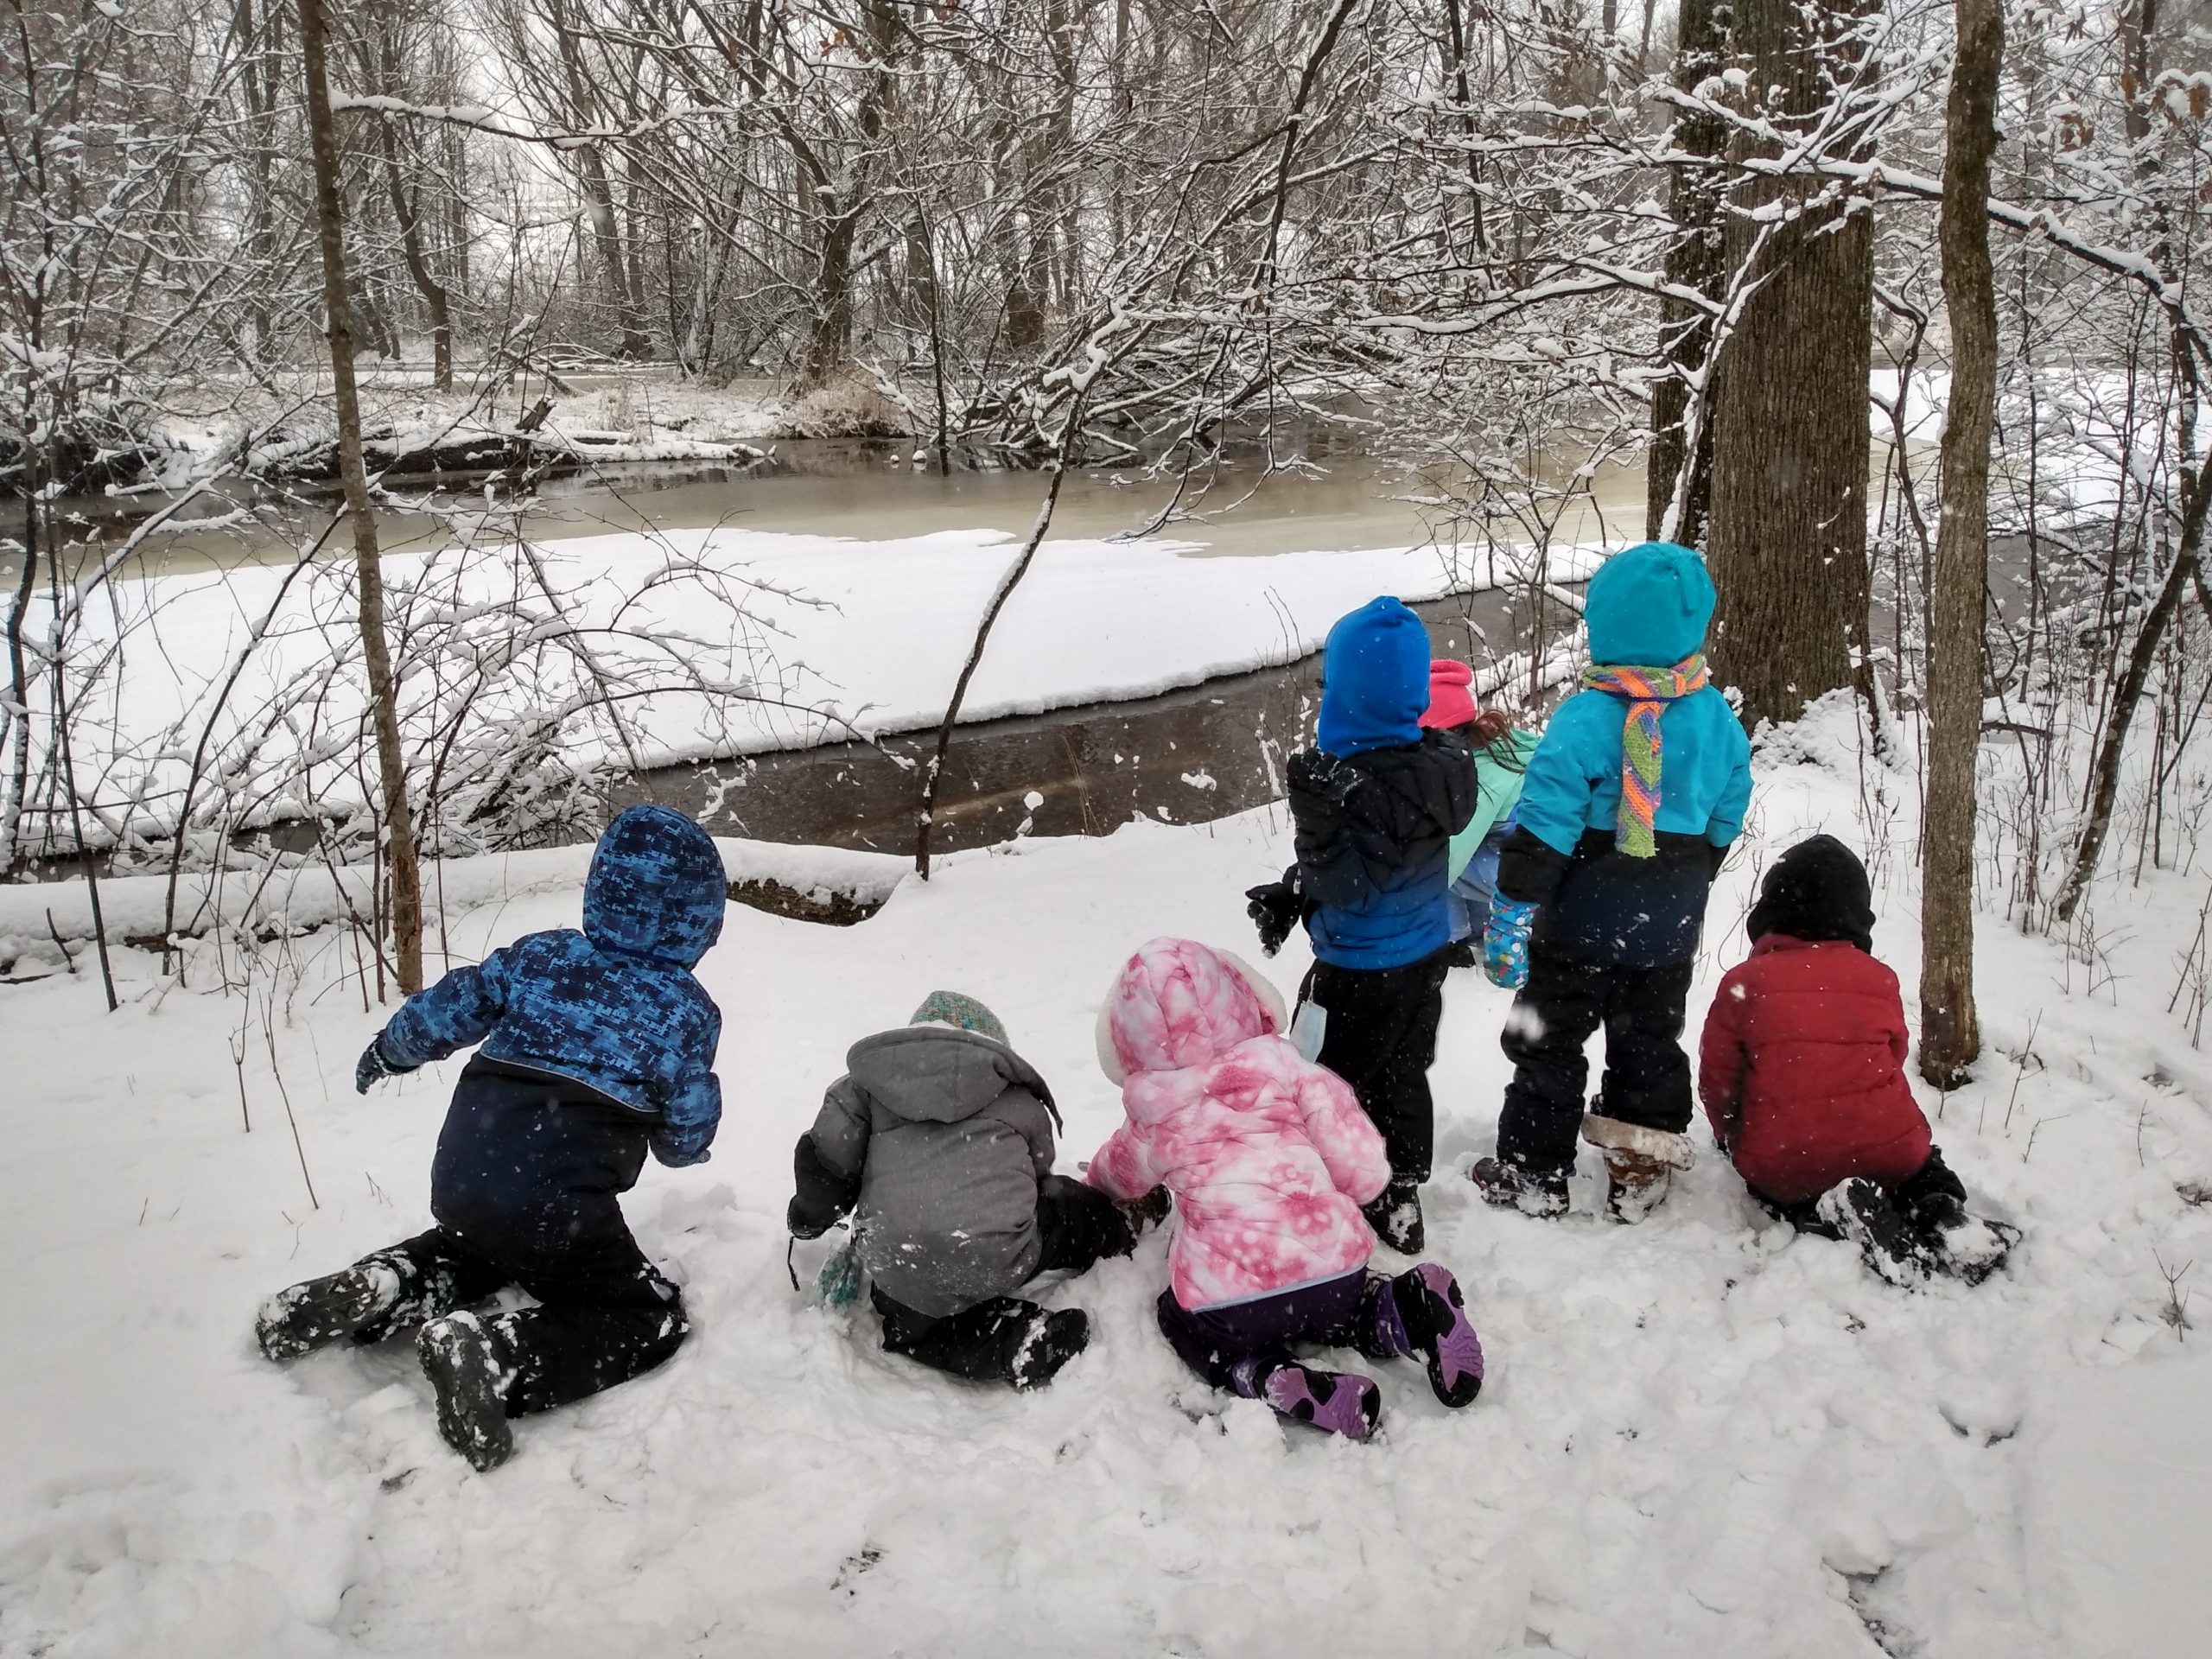
<instances>
[{"instance_id":1,"label":"thickest tree trunk with furrowed brown bark, behind turquoise-hatted child","mask_svg":"<svg viewBox=\"0 0 2212 1659\"><path fill-rule=\"evenodd\" d=\"M1818 38L1814 38L1818 29ZM1858 73L1854 15L1739 0L1734 58L1783 133L1812 126ZM1807 210L1825 188L1754 179L1736 206L1787 208L1767 226L1761 288L1721 347L1712 387L1712 659L1743 690L1745 721L1790 721L1854 684L1867 626L1867 374L1874 356L1874 219L1865 204ZM1728 270L1761 226L1734 215Z\"/></svg>"}]
</instances>

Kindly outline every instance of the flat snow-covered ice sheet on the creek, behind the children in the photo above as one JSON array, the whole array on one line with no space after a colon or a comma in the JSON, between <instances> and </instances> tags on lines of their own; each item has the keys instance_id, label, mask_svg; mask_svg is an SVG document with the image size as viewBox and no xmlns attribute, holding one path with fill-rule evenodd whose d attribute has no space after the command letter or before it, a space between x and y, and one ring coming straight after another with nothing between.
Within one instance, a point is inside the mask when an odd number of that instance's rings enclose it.
<instances>
[{"instance_id":1,"label":"flat snow-covered ice sheet on the creek, behind the children","mask_svg":"<svg viewBox=\"0 0 2212 1659\"><path fill-rule=\"evenodd\" d=\"M856 542L699 529L549 542L535 566L507 544L392 555L414 765L427 774L451 754L502 779L507 745L531 741L566 772L650 768L933 726L1015 551L998 531ZM1511 575L1453 568L1436 549L1263 562L1181 551L1046 542L962 719L1148 697L1296 659L1376 593L1429 599ZM1588 568L1590 551L1553 553L1555 580ZM261 801L259 823L361 799L349 562L161 575L111 595L84 613L73 650L100 664L97 681L73 690L77 776L95 803L113 816L131 803L142 827L166 834L195 752L204 776ZM31 628L44 633L44 617ZM619 708L624 737L606 708ZM546 710L564 721L549 737ZM33 732L46 726L35 719ZM195 810L206 805L201 785Z\"/></svg>"}]
</instances>

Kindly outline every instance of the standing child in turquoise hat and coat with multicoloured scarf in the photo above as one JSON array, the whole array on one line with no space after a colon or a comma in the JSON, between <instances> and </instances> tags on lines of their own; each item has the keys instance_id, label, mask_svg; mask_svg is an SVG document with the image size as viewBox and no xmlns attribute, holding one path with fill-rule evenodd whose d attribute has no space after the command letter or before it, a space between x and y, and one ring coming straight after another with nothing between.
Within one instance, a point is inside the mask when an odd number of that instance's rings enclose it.
<instances>
[{"instance_id":1,"label":"standing child in turquoise hat and coat with multicoloured scarf","mask_svg":"<svg viewBox=\"0 0 2212 1659\"><path fill-rule=\"evenodd\" d=\"M1705 562L1672 542L1615 553L1590 580L1590 668L1528 759L1482 938L1493 984L1520 991L1491 1203L1566 1210L1575 1133L1606 1155L1613 1214L1632 1221L1688 1168L1683 1002L1705 896L1752 796L1752 745L1705 681ZM1584 1044L1606 1075L1584 1117Z\"/></svg>"}]
</instances>

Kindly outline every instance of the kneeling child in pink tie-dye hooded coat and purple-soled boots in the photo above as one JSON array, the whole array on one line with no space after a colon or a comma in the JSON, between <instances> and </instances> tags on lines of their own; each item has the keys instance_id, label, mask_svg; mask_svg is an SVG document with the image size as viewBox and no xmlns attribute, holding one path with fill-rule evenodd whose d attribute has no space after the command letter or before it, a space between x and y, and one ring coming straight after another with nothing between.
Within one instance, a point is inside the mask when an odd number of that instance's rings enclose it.
<instances>
[{"instance_id":1,"label":"kneeling child in pink tie-dye hooded coat and purple-soled boots","mask_svg":"<svg viewBox=\"0 0 2212 1659\"><path fill-rule=\"evenodd\" d=\"M1292 1343L1422 1356L1444 1405L1482 1389L1482 1345L1460 1285L1425 1261L1367 1272L1360 1206L1389 1159L1358 1097L1281 1035L1283 998L1228 951L1157 938L1099 1009L1099 1064L1128 1121L1091 1159L1115 1199L1175 1194L1159 1327L1217 1389L1365 1438L1376 1385L1298 1365Z\"/></svg>"}]
</instances>

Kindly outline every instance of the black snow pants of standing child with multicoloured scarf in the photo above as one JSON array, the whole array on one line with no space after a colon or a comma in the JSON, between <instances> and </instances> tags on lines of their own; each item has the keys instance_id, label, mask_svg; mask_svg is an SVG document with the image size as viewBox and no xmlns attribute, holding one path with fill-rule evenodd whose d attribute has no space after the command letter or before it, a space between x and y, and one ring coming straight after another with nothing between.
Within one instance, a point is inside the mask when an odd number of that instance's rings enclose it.
<instances>
[{"instance_id":1,"label":"black snow pants of standing child with multicoloured scarf","mask_svg":"<svg viewBox=\"0 0 2212 1659\"><path fill-rule=\"evenodd\" d=\"M1683 1002L1697 960L1659 967L1590 962L1537 940L1528 984L1513 998L1500 1046L1513 1062L1498 1113L1498 1157L1526 1175L1575 1168L1590 1062L1584 1044L1606 1031L1606 1075L1595 1110L1681 1135L1690 1128Z\"/></svg>"}]
</instances>

